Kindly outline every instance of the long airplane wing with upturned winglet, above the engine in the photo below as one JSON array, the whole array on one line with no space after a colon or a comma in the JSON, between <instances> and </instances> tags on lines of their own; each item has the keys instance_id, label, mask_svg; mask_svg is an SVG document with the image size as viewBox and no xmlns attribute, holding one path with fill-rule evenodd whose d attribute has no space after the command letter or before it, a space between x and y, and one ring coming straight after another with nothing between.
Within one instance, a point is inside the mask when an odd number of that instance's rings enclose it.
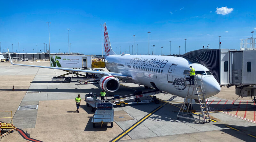
<instances>
[{"instance_id":1,"label":"long airplane wing with upturned winglet, above the engine","mask_svg":"<svg viewBox=\"0 0 256 142\"><path fill-rule=\"evenodd\" d=\"M7 48L8 49L8 48ZM9 56L10 52L8 49ZM12 63L12 59L10 58L10 61ZM14 64L13 65L20 65L20 66L28 66L28 67L37 67L37 68L47 68L47 69L56 69L56 70L63 70L63 71L79 71L79 72L87 72L87 73L95 73L95 74L102 74L105 76L113 76L116 78L126 78L126 79L131 79L127 75L123 75L122 73L117 73L117 72L106 72L106 71L90 71L90 70L81 70L81 69L68 69L68 68L55 68L55 67L47 67L47 66L36 66L36 65L26 65L26 64Z\"/></svg>"}]
</instances>

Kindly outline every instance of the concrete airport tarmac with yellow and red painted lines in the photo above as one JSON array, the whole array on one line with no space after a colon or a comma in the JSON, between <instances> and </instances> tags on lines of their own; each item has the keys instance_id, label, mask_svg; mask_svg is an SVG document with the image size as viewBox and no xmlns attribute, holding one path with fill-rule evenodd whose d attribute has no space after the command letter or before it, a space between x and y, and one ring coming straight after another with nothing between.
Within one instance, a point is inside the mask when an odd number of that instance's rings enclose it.
<instances>
[{"instance_id":1,"label":"concrete airport tarmac with yellow and red painted lines","mask_svg":"<svg viewBox=\"0 0 256 142\"><path fill-rule=\"evenodd\" d=\"M48 66L49 62L18 62ZM106 70L106 69L105 69ZM0 117L10 117L13 124L34 141L255 141L255 103L251 98L238 98L234 87L222 87L208 102L211 123L198 123L180 118L177 113L183 98L172 94L157 94L159 104L133 104L115 107L114 126L92 127L92 116L84 101L89 92L100 93L99 84L52 82L53 76L65 71L0 63ZM128 95L135 90L149 91L144 86L120 81L120 89L107 92L112 98ZM12 86L15 90L12 91ZM74 99L81 95L82 103L76 112ZM238 99L237 101L235 101ZM194 105L193 109L198 110ZM19 109L19 110L18 110ZM26 110L22 110L26 109ZM198 114L192 117L198 118ZM0 119L10 123L11 119ZM28 141L14 131L1 141ZM31 140L33 141L33 140Z\"/></svg>"}]
</instances>

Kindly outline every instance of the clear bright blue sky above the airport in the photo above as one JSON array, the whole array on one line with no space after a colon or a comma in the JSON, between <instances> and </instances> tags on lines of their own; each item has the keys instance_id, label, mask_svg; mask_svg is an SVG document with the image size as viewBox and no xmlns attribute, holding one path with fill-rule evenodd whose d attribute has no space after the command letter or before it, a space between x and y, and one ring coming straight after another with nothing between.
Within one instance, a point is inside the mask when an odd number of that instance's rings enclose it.
<instances>
[{"instance_id":1,"label":"clear bright blue sky above the airport","mask_svg":"<svg viewBox=\"0 0 256 142\"><path fill-rule=\"evenodd\" d=\"M101 54L101 27L107 23L112 49L119 53L139 46L139 54L171 54L201 49L203 46L239 49L241 38L256 31L256 1L0 1L1 49L14 52L48 48L50 24L51 52L68 52L68 31L72 52ZM226 7L226 14L216 8ZM223 9L222 9L223 10ZM256 34L255 34L256 37Z\"/></svg>"}]
</instances>

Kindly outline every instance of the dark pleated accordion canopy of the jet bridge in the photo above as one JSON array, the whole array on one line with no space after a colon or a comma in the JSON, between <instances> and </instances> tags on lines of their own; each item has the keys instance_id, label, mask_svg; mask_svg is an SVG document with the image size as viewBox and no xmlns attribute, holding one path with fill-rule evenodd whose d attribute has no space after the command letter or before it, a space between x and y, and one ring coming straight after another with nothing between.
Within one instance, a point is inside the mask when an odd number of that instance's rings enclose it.
<instances>
[{"instance_id":1,"label":"dark pleated accordion canopy of the jet bridge","mask_svg":"<svg viewBox=\"0 0 256 142\"><path fill-rule=\"evenodd\" d=\"M182 57L192 63L204 65L220 83L220 49L199 49L190 51Z\"/></svg>"}]
</instances>

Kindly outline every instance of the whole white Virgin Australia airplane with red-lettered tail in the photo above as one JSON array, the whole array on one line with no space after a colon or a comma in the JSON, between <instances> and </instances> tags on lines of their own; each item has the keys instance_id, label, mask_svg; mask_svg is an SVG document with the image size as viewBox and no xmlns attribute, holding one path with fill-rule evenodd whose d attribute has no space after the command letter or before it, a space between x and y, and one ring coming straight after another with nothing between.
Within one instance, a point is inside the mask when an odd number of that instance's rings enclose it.
<instances>
[{"instance_id":1,"label":"whole white Virgin Australia airplane with red-lettered tail","mask_svg":"<svg viewBox=\"0 0 256 142\"><path fill-rule=\"evenodd\" d=\"M185 98L188 93L187 82L183 80L185 77L184 73L188 72L189 66L193 66L193 68L196 69L196 73L204 74L204 89L207 97L211 97L220 92L219 83L206 67L201 64L191 63L185 58L130 54L116 55L109 42L106 23L104 23L103 26L105 64L109 72L13 64L12 59L10 59L11 63L13 65L67 70L70 72L79 71L102 74L103 77L100 79L100 87L108 92L117 91L119 89L119 79L121 79L127 82L144 85L145 87L153 87L183 98ZM192 93L192 89L190 90ZM196 95L192 99L197 99Z\"/></svg>"}]
</instances>

